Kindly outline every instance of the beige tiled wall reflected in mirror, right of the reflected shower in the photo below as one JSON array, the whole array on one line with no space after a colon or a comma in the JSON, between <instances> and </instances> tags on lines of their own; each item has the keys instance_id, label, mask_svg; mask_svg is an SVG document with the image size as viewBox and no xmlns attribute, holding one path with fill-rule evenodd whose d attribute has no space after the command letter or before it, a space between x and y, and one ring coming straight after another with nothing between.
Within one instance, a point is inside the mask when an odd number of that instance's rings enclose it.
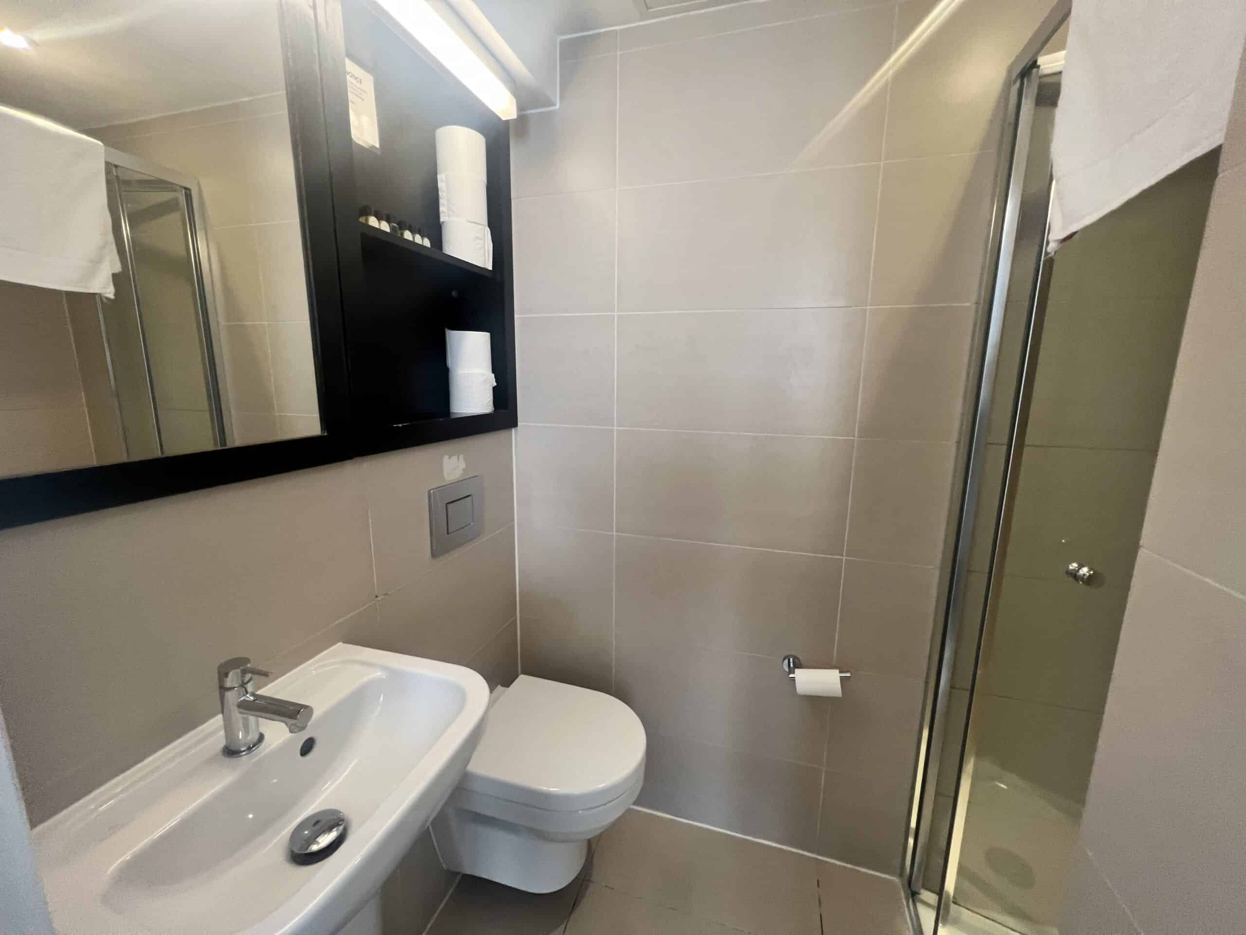
<instances>
[{"instance_id":1,"label":"beige tiled wall reflected in mirror, right of the reflected shower","mask_svg":"<svg viewBox=\"0 0 1246 935\"><path fill-rule=\"evenodd\" d=\"M285 95L90 132L107 146L192 175L202 185L224 342L231 441L319 433ZM207 419L204 411L161 409L162 429L168 421L187 435L202 435Z\"/></svg>"}]
</instances>

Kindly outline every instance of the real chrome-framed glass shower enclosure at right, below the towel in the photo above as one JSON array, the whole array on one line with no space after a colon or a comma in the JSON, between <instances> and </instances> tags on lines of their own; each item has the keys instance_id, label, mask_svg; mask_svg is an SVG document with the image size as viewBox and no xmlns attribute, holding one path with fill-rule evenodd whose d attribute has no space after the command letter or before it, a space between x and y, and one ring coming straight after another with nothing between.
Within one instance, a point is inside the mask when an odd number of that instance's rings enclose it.
<instances>
[{"instance_id":1,"label":"real chrome-framed glass shower enclosure at right, below the towel","mask_svg":"<svg viewBox=\"0 0 1246 935\"><path fill-rule=\"evenodd\" d=\"M908 851L927 935L1058 931L1215 180L1214 152L1045 256L1062 77L1030 51L1009 98Z\"/></svg>"}]
</instances>

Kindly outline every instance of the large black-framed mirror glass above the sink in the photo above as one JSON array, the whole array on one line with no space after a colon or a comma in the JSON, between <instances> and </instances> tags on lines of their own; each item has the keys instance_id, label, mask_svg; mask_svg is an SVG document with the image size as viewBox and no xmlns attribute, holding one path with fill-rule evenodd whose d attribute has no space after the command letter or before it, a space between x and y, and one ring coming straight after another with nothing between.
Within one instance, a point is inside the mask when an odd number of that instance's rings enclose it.
<instances>
[{"instance_id":1,"label":"large black-framed mirror glass above the sink","mask_svg":"<svg viewBox=\"0 0 1246 935\"><path fill-rule=\"evenodd\" d=\"M37 115L102 143L121 267L108 298L0 251L0 476L320 434L279 7L0 0L0 136ZM2 244L56 229L45 145L0 166L5 202L40 189Z\"/></svg>"}]
</instances>

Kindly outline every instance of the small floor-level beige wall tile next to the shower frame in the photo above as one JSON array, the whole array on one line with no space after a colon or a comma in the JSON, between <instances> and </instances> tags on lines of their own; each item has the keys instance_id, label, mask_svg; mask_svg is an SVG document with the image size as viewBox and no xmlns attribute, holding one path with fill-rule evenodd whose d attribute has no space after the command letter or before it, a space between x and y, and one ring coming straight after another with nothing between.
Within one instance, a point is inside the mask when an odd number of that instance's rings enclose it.
<instances>
[{"instance_id":1,"label":"small floor-level beige wall tile next to the shower frame","mask_svg":"<svg viewBox=\"0 0 1246 935\"><path fill-rule=\"evenodd\" d=\"M908 827L905 777L826 770L817 828L817 853L845 864L898 874Z\"/></svg>"}]
</instances>

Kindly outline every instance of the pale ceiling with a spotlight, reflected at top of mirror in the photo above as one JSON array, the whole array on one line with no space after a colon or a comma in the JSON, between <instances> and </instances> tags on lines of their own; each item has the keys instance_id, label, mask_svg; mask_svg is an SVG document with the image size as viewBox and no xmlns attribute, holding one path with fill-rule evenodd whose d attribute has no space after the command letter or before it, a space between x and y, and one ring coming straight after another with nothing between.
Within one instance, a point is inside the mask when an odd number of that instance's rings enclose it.
<instances>
[{"instance_id":1,"label":"pale ceiling with a spotlight, reflected at top of mirror","mask_svg":"<svg viewBox=\"0 0 1246 935\"><path fill-rule=\"evenodd\" d=\"M277 0L0 0L0 102L75 128L285 89Z\"/></svg>"}]
</instances>

